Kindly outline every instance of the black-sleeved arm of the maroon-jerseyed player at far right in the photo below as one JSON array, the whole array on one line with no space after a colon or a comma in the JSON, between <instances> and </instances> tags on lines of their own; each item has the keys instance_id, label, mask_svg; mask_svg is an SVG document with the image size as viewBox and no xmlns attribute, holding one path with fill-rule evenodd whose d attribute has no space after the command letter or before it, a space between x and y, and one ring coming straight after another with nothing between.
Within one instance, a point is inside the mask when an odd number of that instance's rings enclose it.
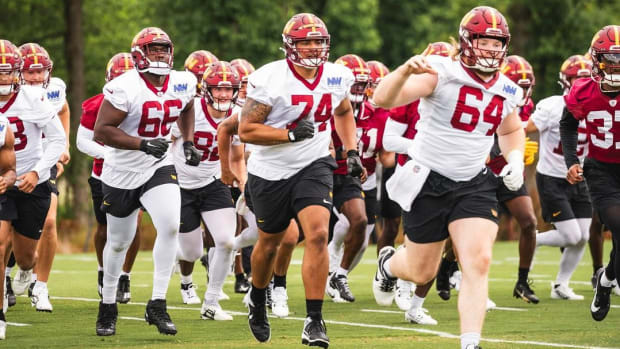
<instances>
[{"instance_id":1,"label":"black-sleeved arm of the maroon-jerseyed player at far right","mask_svg":"<svg viewBox=\"0 0 620 349\"><path fill-rule=\"evenodd\" d=\"M568 169L566 180L570 184L583 181L583 168L577 156L578 129L579 121L567 108L564 108L562 119L560 120L560 142L562 143L564 162Z\"/></svg>"}]
</instances>

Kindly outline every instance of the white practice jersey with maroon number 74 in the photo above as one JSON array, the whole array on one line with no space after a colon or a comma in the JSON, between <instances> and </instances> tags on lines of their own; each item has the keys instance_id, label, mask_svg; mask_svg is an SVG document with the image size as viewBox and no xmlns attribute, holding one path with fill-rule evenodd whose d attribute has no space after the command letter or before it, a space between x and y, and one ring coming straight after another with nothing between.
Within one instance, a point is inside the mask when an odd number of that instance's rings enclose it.
<instances>
[{"instance_id":1,"label":"white practice jersey with maroon number 74","mask_svg":"<svg viewBox=\"0 0 620 349\"><path fill-rule=\"evenodd\" d=\"M328 156L330 119L347 97L353 79L350 69L329 62L319 67L312 81L299 76L288 60L269 63L252 73L248 98L271 106L265 125L294 128L297 122L309 117L314 120L315 132L314 137L295 143L253 144L248 172L267 180L280 180Z\"/></svg>"}]
</instances>

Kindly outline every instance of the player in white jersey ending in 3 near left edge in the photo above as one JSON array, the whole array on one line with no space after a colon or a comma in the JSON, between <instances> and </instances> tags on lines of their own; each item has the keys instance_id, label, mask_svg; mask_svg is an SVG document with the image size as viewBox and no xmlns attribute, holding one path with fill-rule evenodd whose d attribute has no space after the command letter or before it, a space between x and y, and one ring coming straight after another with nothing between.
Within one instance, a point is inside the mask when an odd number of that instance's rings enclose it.
<instances>
[{"instance_id":1,"label":"player in white jersey ending in 3 near left edge","mask_svg":"<svg viewBox=\"0 0 620 349\"><path fill-rule=\"evenodd\" d=\"M10 42L4 40L1 43L3 55L16 53L17 49ZM21 58L19 61L21 64ZM8 78L11 74L13 71L7 71L5 75ZM0 115L11 123L15 136L17 186L3 195L0 220L6 222L0 229L6 232L12 225L15 232L13 253L21 270L13 283L13 290L19 295L30 285L36 248L51 201L50 169L66 149L66 137L57 111L47 100L43 88L23 85L19 89L8 89L2 99L5 103L0 108ZM44 133L45 149L42 144ZM47 292L44 294L47 296ZM51 305L37 307L37 310L51 311Z\"/></svg>"}]
</instances>

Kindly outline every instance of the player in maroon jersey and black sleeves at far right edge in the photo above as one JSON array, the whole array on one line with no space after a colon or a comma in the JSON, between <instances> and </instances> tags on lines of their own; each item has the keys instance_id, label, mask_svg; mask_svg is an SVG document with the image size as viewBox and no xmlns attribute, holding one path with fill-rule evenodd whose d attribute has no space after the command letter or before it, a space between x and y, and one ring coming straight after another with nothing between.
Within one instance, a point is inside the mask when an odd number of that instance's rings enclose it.
<instances>
[{"instance_id":1,"label":"player in maroon jersey and black sleeves at far right edge","mask_svg":"<svg viewBox=\"0 0 620 349\"><path fill-rule=\"evenodd\" d=\"M592 39L592 78L577 79L564 96L560 121L562 152L571 184L585 178L592 205L611 230L614 246L609 264L596 273L590 313L602 321L610 308L611 289L620 271L620 26L608 25ZM579 121L585 120L588 155L581 166L578 152Z\"/></svg>"}]
</instances>

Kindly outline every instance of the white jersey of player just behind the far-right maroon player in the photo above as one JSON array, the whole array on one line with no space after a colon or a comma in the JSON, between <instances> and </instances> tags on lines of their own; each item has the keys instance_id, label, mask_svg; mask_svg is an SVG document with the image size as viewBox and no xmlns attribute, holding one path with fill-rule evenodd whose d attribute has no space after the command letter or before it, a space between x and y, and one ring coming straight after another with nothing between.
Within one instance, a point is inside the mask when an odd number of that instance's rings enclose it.
<instances>
[{"instance_id":1,"label":"white jersey of player just behind the far-right maroon player","mask_svg":"<svg viewBox=\"0 0 620 349\"><path fill-rule=\"evenodd\" d=\"M560 120L565 106L564 96L547 97L536 104L536 111L530 118L540 132L540 150L536 171L557 178L566 178L568 171L560 142ZM588 146L585 119L579 122L578 132L577 156L583 165Z\"/></svg>"}]
</instances>

